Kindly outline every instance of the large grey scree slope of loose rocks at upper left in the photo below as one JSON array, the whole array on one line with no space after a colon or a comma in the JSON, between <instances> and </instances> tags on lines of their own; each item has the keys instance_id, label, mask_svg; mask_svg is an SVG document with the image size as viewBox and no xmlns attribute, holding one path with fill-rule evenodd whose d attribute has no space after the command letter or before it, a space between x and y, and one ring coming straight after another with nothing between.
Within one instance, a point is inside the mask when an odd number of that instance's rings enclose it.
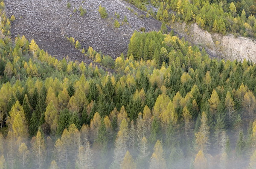
<instances>
[{"instance_id":1,"label":"large grey scree slope of loose rocks at upper left","mask_svg":"<svg viewBox=\"0 0 256 169\"><path fill-rule=\"evenodd\" d=\"M67 8L68 2L71 8ZM40 48L57 58L68 55L71 59L81 60L82 57L64 35L78 39L84 48L92 46L96 51L115 58L127 52L134 30L145 27L146 31L152 31L161 27L157 20L141 19L140 15L145 13L122 0L85 0L84 3L82 0L5 0L5 3L7 14L16 17L12 24L12 38L18 34L28 39L34 38ZM99 5L106 7L107 19L100 17ZM79 6L87 9L84 17L80 16L78 10L73 12ZM129 11L127 6L138 15ZM120 15L120 19L116 18L115 12ZM125 16L128 24L114 28L114 20L122 23Z\"/></svg>"}]
</instances>

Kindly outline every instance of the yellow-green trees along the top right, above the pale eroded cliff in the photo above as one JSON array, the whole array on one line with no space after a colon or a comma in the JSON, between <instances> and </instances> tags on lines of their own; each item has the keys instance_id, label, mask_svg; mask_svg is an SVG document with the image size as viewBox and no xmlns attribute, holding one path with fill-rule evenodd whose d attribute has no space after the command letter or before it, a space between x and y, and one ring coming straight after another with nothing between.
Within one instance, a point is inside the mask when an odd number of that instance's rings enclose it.
<instances>
[{"instance_id":1,"label":"yellow-green trees along the top right, above the pale eroded cliff","mask_svg":"<svg viewBox=\"0 0 256 169\"><path fill-rule=\"evenodd\" d=\"M183 20L194 22L213 33L232 33L256 38L256 2L242 1L205 1L205 0L151 0L158 7L155 14L152 9L145 8L146 2L127 0L137 7L148 11L151 16L163 22Z\"/></svg>"}]
</instances>

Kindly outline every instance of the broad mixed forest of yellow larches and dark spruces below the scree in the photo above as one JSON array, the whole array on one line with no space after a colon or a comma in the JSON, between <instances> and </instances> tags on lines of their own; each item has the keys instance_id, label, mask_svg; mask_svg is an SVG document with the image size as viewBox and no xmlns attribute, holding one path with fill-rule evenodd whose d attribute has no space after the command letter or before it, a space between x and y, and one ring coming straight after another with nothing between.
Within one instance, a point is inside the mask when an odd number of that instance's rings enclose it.
<instances>
[{"instance_id":1,"label":"broad mixed forest of yellow larches and dark spruces below the scree","mask_svg":"<svg viewBox=\"0 0 256 169\"><path fill-rule=\"evenodd\" d=\"M12 42L0 13L0 169L256 168L255 63L210 58L164 24L115 60L67 38L110 73Z\"/></svg>"}]
</instances>

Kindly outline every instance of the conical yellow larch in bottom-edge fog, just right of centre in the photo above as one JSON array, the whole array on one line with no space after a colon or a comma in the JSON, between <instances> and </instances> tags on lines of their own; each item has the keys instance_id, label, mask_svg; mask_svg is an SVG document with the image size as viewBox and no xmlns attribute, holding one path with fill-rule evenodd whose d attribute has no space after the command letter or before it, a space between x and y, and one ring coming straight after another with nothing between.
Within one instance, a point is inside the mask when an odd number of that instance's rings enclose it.
<instances>
[{"instance_id":1,"label":"conical yellow larch in bottom-edge fog, just right of centre","mask_svg":"<svg viewBox=\"0 0 256 169\"><path fill-rule=\"evenodd\" d=\"M163 146L159 140L154 145L154 152L149 162L150 169L166 169L166 161L163 154Z\"/></svg>"}]
</instances>

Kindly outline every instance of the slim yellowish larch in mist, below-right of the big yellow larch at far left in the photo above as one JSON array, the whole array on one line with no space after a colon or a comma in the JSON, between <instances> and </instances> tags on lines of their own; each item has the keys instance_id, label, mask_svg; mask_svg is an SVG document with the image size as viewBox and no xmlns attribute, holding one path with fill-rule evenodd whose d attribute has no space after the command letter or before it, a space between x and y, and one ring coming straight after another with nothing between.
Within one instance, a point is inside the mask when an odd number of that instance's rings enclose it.
<instances>
[{"instance_id":1,"label":"slim yellowish larch in mist, below-right of the big yellow larch at far left","mask_svg":"<svg viewBox=\"0 0 256 169\"><path fill-rule=\"evenodd\" d=\"M36 136L32 138L32 149L34 154L35 166L39 169L44 168L46 145L44 141L44 135L38 130Z\"/></svg>"}]
</instances>

